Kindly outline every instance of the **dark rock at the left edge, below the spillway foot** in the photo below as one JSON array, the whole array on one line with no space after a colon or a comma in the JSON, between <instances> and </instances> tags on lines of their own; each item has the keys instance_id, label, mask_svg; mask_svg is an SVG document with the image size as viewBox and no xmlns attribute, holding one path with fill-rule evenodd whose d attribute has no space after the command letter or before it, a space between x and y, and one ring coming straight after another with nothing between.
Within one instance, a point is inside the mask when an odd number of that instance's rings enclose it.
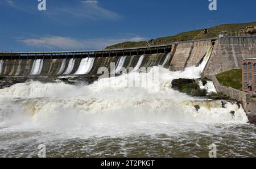
<instances>
[{"instance_id":1,"label":"dark rock at the left edge, below the spillway foot","mask_svg":"<svg viewBox=\"0 0 256 169\"><path fill-rule=\"evenodd\" d=\"M25 77L0 77L0 89L13 86L16 83L24 83L27 81Z\"/></svg>"}]
</instances>

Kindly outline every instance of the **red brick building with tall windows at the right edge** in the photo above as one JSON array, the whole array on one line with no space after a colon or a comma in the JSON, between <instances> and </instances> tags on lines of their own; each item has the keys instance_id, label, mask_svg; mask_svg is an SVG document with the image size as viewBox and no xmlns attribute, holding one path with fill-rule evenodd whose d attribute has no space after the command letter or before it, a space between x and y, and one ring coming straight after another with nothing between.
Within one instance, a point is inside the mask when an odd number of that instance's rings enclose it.
<instances>
[{"instance_id":1,"label":"red brick building with tall windows at the right edge","mask_svg":"<svg viewBox=\"0 0 256 169\"><path fill-rule=\"evenodd\" d=\"M256 58L242 60L243 91L256 95Z\"/></svg>"}]
</instances>

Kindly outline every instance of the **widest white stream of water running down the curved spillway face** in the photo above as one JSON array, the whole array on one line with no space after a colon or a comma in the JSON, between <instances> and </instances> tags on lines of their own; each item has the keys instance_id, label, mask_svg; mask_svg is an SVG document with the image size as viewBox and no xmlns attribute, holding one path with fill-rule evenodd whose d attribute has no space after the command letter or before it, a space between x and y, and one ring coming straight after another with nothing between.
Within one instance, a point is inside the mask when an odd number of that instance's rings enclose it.
<instances>
[{"instance_id":1,"label":"widest white stream of water running down the curved spillway face","mask_svg":"<svg viewBox=\"0 0 256 169\"><path fill-rule=\"evenodd\" d=\"M93 57L87 57L87 58L82 58L79 68L76 71L76 75L81 75L81 74L88 74L90 70L92 70L93 63L94 63Z\"/></svg>"}]
</instances>

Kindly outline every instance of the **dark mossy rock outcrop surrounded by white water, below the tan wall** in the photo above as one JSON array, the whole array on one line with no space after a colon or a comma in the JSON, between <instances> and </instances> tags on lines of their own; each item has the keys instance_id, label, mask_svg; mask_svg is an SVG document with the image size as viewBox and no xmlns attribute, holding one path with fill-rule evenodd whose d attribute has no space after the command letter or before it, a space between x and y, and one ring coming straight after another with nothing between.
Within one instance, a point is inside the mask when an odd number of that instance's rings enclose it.
<instances>
[{"instance_id":1,"label":"dark mossy rock outcrop surrounded by white water, below the tan wall","mask_svg":"<svg viewBox=\"0 0 256 169\"><path fill-rule=\"evenodd\" d=\"M201 89L194 79L174 79L172 81L172 88L191 96L203 97L207 94L207 91L205 89Z\"/></svg>"}]
</instances>

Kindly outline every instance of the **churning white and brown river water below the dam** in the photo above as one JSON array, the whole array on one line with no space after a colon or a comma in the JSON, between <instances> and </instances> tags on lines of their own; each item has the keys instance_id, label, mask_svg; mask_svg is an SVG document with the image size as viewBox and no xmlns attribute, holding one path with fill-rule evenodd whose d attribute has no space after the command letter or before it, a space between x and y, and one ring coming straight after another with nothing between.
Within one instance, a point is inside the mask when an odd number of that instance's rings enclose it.
<instances>
[{"instance_id":1,"label":"churning white and brown river water below the dam","mask_svg":"<svg viewBox=\"0 0 256 169\"><path fill-rule=\"evenodd\" d=\"M199 68L3 88L0 157L38 157L41 144L46 157L208 157L212 144L217 157L256 157L256 126L239 104L171 89L172 79L200 78Z\"/></svg>"}]
</instances>

